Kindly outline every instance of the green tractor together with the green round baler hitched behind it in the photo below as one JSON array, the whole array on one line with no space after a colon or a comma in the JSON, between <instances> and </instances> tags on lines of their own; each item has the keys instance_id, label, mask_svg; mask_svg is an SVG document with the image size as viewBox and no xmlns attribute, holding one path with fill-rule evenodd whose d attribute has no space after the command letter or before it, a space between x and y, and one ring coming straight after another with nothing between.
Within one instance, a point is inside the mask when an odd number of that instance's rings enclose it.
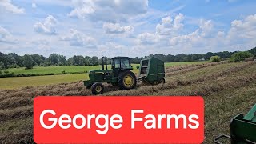
<instances>
[{"instance_id":1,"label":"green tractor together with the green round baler hitched behind it","mask_svg":"<svg viewBox=\"0 0 256 144\"><path fill-rule=\"evenodd\" d=\"M86 86L87 89L91 89L93 94L103 93L103 82L118 86L121 90L134 89L139 81L148 82L150 84L165 82L164 62L157 58L142 59L138 78L136 78L135 74L131 71L133 67L130 65L130 58L112 58L110 70L108 70L106 61L106 57L102 57L102 70L90 71L90 80L84 81L84 86Z\"/></svg>"}]
</instances>

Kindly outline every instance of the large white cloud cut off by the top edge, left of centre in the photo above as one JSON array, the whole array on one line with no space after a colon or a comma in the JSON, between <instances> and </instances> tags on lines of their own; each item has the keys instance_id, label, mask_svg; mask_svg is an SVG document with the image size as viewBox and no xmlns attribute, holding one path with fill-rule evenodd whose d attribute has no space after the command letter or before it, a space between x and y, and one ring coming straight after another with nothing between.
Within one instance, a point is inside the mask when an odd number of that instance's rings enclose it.
<instances>
[{"instance_id":1,"label":"large white cloud cut off by the top edge, left of centre","mask_svg":"<svg viewBox=\"0 0 256 144\"><path fill-rule=\"evenodd\" d=\"M120 22L131 16L144 14L148 0L73 0L70 17L90 18L94 21Z\"/></svg>"}]
</instances>

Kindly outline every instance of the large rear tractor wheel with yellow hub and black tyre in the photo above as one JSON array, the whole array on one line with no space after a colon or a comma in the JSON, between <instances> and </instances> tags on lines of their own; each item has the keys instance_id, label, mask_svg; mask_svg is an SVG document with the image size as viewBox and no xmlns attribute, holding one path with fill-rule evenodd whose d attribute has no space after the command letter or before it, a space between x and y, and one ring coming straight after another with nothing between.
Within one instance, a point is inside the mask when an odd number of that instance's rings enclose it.
<instances>
[{"instance_id":1,"label":"large rear tractor wheel with yellow hub and black tyre","mask_svg":"<svg viewBox=\"0 0 256 144\"><path fill-rule=\"evenodd\" d=\"M130 90L136 86L136 77L133 72L125 71L118 75L118 86L121 90Z\"/></svg>"}]
</instances>

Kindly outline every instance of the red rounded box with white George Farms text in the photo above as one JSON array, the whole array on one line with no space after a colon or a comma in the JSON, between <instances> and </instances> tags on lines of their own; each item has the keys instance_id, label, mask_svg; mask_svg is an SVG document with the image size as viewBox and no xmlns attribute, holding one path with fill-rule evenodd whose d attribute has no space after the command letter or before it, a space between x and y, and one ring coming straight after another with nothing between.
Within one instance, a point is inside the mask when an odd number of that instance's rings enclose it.
<instances>
[{"instance_id":1,"label":"red rounded box with white George Farms text","mask_svg":"<svg viewBox=\"0 0 256 144\"><path fill-rule=\"evenodd\" d=\"M202 97L34 98L37 143L202 143L203 138Z\"/></svg>"}]
</instances>

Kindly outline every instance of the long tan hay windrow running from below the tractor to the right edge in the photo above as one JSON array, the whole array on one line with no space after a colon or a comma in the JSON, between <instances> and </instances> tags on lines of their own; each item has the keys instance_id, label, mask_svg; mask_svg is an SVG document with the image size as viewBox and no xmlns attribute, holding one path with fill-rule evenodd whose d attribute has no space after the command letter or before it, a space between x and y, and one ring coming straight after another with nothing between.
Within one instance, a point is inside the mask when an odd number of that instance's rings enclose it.
<instances>
[{"instance_id":1,"label":"long tan hay windrow running from below the tractor to the right edge","mask_svg":"<svg viewBox=\"0 0 256 144\"><path fill-rule=\"evenodd\" d=\"M234 66L228 70L222 70L215 74L206 75L203 78L192 78L192 79L189 78L187 80L174 80L174 81L166 82L166 84L164 85L142 86L135 90L123 90L122 93L120 93L120 91L114 91L114 92L110 92L109 94L103 94L103 95L152 95L161 90L174 89L178 86L187 86L194 83L205 82L211 79L222 77L224 75L226 76L231 73L236 73L239 70L243 70L247 66L251 66L254 64L255 62L248 62L243 64L242 66Z\"/></svg>"}]
</instances>

